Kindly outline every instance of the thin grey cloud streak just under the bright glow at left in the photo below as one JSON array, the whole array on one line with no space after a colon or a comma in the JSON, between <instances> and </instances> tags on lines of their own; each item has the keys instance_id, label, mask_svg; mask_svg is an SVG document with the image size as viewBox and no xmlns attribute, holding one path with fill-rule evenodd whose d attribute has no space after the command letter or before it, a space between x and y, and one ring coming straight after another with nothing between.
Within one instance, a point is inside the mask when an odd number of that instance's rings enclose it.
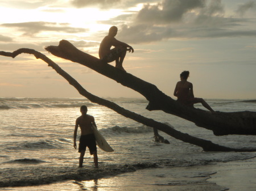
<instances>
[{"instance_id":1,"label":"thin grey cloud streak just under the bright glow at left","mask_svg":"<svg viewBox=\"0 0 256 191\"><path fill-rule=\"evenodd\" d=\"M66 33L86 32L85 28L69 27L68 23L50 23L50 22L27 22L27 23L6 23L2 27L16 27L19 31L24 32L26 36L33 36L42 31L55 31Z\"/></svg>"}]
</instances>

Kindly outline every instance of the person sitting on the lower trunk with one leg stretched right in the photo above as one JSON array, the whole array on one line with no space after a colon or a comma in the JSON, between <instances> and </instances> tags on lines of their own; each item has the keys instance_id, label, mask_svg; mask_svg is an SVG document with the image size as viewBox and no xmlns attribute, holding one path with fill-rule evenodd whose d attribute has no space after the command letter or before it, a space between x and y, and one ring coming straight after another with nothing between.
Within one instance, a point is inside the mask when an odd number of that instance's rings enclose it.
<instances>
[{"instance_id":1,"label":"person sitting on the lower trunk with one leg stretched right","mask_svg":"<svg viewBox=\"0 0 256 191\"><path fill-rule=\"evenodd\" d=\"M188 77L189 71L183 71L180 74L180 81L177 82L174 90L174 96L177 97L177 101L189 107L193 107L193 104L201 103L210 112L215 113L203 98L197 98L194 96L193 84L187 81Z\"/></svg>"}]
</instances>

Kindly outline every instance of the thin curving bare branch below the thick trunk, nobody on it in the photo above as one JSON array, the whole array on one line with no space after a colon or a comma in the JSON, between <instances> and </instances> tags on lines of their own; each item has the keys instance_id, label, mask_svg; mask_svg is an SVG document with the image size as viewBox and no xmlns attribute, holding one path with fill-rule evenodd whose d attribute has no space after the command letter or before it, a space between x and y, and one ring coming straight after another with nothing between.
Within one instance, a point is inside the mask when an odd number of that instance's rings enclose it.
<instances>
[{"instance_id":1,"label":"thin curving bare branch below the thick trunk, nobody on it","mask_svg":"<svg viewBox=\"0 0 256 191\"><path fill-rule=\"evenodd\" d=\"M203 148L204 151L238 151L238 152L255 152L256 149L246 149L246 148L229 148L225 146L220 146L217 144L214 144L210 141L207 141L205 139L200 139L193 137L191 135L181 133L180 131L175 130L171 126L168 126L166 124L163 124L161 122L152 120L151 118L146 118L144 116L141 116L140 114L131 112L127 109L124 109L120 107L119 105L113 103L112 101L102 99L100 97L97 97L93 94L90 94L88 91L86 91L74 78L71 77L68 73L66 73L63 69L61 69L55 62L53 62L51 59L49 59L44 54L37 52L33 49L27 49L22 48L14 51L13 53L10 52L0 52L0 55L2 56L8 56L15 58L21 53L27 53L27 54L34 54L36 58L40 58L44 62L48 63L48 66L51 66L58 74L60 74L63 78L65 78L69 84L71 84L73 87L76 88L77 91L82 96L85 96L87 99L92 101L93 103L97 103L100 105L104 105L105 107L108 107L110 109L113 109L115 112L121 114L122 116L125 116L127 118L131 118L134 121L137 121L143 125L150 126L152 128L158 129L163 131L164 133L171 135L172 137L179 139L183 142L191 143L196 146L200 146Z\"/></svg>"}]
</instances>

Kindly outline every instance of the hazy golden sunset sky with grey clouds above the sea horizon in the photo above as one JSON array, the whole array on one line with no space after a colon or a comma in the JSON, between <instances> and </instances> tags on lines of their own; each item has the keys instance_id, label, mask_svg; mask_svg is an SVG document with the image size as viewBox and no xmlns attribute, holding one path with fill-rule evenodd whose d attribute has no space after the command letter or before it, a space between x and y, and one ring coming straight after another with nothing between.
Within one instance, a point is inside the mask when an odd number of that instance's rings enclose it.
<instances>
[{"instance_id":1,"label":"hazy golden sunset sky with grey clouds above the sea horizon","mask_svg":"<svg viewBox=\"0 0 256 191\"><path fill-rule=\"evenodd\" d=\"M98 57L111 26L134 48L123 67L174 98L183 70L196 97L256 99L256 0L0 1L0 51L35 49L100 97L142 97L45 46L70 41ZM110 63L114 65L114 63ZM34 56L0 56L0 97L82 97Z\"/></svg>"}]
</instances>

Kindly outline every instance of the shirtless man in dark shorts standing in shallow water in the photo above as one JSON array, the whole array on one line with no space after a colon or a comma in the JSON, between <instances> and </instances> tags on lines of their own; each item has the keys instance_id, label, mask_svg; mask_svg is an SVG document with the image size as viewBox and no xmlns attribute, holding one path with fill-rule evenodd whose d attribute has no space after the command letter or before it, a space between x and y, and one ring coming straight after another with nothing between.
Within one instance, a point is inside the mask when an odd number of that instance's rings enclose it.
<instances>
[{"instance_id":1,"label":"shirtless man in dark shorts standing in shallow water","mask_svg":"<svg viewBox=\"0 0 256 191\"><path fill-rule=\"evenodd\" d=\"M80 108L80 112L82 115L76 119L76 125L74 130L74 148L76 149L77 129L78 127L80 127L81 137L80 137L80 143L79 143L79 152L80 152L79 167L82 167L86 147L89 148L90 155L93 155L95 167L98 167L96 140L92 130L92 124L96 126L96 123L94 121L94 117L89 116L87 114L87 111L88 111L87 107L85 105L82 105Z\"/></svg>"}]
</instances>

